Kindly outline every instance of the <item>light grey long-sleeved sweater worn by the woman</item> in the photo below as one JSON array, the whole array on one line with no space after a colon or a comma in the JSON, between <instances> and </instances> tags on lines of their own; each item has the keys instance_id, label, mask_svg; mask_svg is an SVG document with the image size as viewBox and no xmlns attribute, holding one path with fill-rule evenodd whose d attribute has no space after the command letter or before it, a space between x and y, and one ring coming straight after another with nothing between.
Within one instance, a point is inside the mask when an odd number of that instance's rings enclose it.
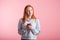
<instances>
[{"instance_id":1,"label":"light grey long-sleeved sweater worn by the woman","mask_svg":"<svg viewBox=\"0 0 60 40\"><path fill-rule=\"evenodd\" d=\"M26 25L31 24L31 30L26 29ZM39 19L26 20L22 24L22 18L18 22L18 34L21 35L22 39L36 39L37 35L40 33L40 21Z\"/></svg>"}]
</instances>

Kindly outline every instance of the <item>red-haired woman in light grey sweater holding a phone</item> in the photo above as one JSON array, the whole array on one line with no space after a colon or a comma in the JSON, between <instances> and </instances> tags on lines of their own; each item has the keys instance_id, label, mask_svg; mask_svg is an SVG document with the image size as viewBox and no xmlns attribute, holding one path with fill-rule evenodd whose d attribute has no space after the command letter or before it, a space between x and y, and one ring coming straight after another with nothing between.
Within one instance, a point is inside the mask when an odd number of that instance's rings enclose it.
<instances>
[{"instance_id":1,"label":"red-haired woman in light grey sweater holding a phone","mask_svg":"<svg viewBox=\"0 0 60 40\"><path fill-rule=\"evenodd\" d=\"M21 35L21 40L36 40L39 33L39 19L34 16L33 7L27 5L24 9L23 18L19 19L18 34Z\"/></svg>"}]
</instances>

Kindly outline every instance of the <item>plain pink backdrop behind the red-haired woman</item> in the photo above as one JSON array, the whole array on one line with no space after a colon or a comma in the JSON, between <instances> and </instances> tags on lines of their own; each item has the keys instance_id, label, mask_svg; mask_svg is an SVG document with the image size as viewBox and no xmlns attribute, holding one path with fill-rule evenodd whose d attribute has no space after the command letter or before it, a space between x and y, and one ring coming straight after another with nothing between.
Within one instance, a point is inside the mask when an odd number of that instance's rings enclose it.
<instances>
[{"instance_id":1,"label":"plain pink backdrop behind the red-haired woman","mask_svg":"<svg viewBox=\"0 0 60 40\"><path fill-rule=\"evenodd\" d=\"M0 0L0 40L21 39L17 25L27 4L40 19L37 40L60 40L60 0Z\"/></svg>"}]
</instances>

